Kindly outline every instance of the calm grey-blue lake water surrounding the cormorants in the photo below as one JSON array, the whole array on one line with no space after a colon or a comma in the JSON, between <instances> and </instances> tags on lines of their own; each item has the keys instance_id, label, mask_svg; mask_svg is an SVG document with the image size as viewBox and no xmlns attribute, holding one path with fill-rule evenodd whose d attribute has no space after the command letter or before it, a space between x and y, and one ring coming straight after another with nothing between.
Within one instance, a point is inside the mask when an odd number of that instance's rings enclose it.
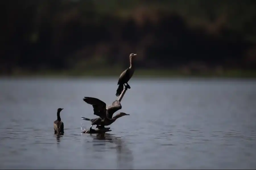
<instances>
[{"instance_id":1,"label":"calm grey-blue lake water surrounding the cormorants","mask_svg":"<svg viewBox=\"0 0 256 170\"><path fill-rule=\"evenodd\" d=\"M84 96L110 105L117 78L0 79L0 169L255 169L256 81L138 80L105 136ZM65 135L53 135L57 108ZM95 128L95 127L94 127Z\"/></svg>"}]
</instances>

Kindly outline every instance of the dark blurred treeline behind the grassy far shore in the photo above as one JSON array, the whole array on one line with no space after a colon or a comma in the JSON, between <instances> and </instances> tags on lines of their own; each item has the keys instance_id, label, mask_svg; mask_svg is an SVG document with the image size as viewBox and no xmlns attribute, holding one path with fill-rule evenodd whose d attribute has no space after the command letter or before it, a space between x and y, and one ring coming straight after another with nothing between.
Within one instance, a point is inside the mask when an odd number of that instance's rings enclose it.
<instances>
[{"instance_id":1,"label":"dark blurred treeline behind the grassy far shore","mask_svg":"<svg viewBox=\"0 0 256 170\"><path fill-rule=\"evenodd\" d=\"M256 1L1 1L0 73L256 68Z\"/></svg>"}]
</instances>

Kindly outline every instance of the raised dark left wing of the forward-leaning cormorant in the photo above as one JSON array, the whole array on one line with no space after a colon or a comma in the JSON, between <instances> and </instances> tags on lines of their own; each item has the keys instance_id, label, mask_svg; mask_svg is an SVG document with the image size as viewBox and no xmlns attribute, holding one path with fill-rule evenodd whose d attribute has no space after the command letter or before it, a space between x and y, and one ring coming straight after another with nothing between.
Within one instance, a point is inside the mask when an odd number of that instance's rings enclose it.
<instances>
[{"instance_id":1,"label":"raised dark left wing of the forward-leaning cormorant","mask_svg":"<svg viewBox=\"0 0 256 170\"><path fill-rule=\"evenodd\" d=\"M104 119L106 117L106 103L94 97L84 97L83 101L92 105L95 115Z\"/></svg>"}]
</instances>

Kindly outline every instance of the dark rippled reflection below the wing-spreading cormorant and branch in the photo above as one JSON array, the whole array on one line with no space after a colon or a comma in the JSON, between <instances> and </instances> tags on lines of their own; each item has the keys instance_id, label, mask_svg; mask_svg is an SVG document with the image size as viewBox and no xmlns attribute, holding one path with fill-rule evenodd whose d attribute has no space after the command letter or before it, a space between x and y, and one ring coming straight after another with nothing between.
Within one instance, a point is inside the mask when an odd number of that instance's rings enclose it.
<instances>
[{"instance_id":1,"label":"dark rippled reflection below the wing-spreading cormorant and branch","mask_svg":"<svg viewBox=\"0 0 256 170\"><path fill-rule=\"evenodd\" d=\"M114 148L117 150L117 169L133 169L132 151L123 142L121 137L115 137L112 134L105 133L96 134L96 136L93 135L93 139L115 143L116 146Z\"/></svg>"}]
</instances>

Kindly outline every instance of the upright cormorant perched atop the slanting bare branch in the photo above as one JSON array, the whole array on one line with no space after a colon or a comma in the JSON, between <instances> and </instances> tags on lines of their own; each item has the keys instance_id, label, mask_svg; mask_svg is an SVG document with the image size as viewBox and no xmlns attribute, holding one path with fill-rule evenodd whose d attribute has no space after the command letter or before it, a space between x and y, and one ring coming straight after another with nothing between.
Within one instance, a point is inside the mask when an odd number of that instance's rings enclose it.
<instances>
[{"instance_id":1,"label":"upright cormorant perched atop the slanting bare branch","mask_svg":"<svg viewBox=\"0 0 256 170\"><path fill-rule=\"evenodd\" d=\"M116 96L121 95L122 91L123 91L123 86L127 86L127 88L131 88L130 85L128 84L128 81L131 79L131 77L133 76L133 73L135 71L135 67L133 64L133 56L136 56L137 54L131 53L129 58L130 58L130 67L125 69L125 71L123 71L123 73L121 73L119 80L117 82L118 88L116 90ZM126 84L126 85L125 85Z\"/></svg>"}]
</instances>

